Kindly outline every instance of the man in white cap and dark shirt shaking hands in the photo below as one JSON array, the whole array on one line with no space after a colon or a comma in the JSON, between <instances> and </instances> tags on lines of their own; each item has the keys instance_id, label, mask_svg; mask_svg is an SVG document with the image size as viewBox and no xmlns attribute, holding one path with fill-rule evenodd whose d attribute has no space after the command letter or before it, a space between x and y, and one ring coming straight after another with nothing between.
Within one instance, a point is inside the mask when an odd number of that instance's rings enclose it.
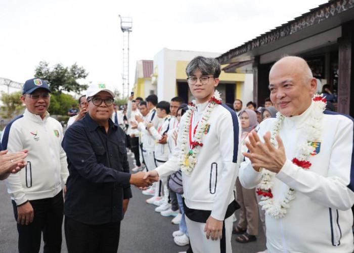
<instances>
[{"instance_id":1,"label":"man in white cap and dark shirt shaking hands","mask_svg":"<svg viewBox=\"0 0 354 253\"><path fill-rule=\"evenodd\" d=\"M86 91L86 115L66 131L62 143L70 176L65 198L68 252L117 252L120 221L131 198L130 184L152 185L144 173L129 174L123 130L110 116L114 93L104 84Z\"/></svg>"}]
</instances>

